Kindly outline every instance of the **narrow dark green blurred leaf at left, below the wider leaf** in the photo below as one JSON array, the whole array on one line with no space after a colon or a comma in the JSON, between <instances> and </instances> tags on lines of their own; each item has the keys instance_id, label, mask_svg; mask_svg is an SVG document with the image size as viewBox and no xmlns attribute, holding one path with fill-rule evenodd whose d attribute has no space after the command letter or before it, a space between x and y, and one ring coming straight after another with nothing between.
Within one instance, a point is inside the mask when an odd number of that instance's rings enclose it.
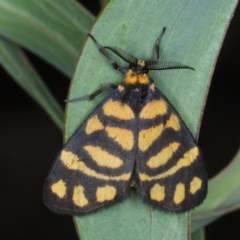
<instances>
[{"instance_id":1,"label":"narrow dark green blurred leaf at left, below the wider leaf","mask_svg":"<svg viewBox=\"0 0 240 240\"><path fill-rule=\"evenodd\" d=\"M41 105L59 128L63 111L28 59L15 44L0 37L0 63L12 78Z\"/></svg>"}]
</instances>

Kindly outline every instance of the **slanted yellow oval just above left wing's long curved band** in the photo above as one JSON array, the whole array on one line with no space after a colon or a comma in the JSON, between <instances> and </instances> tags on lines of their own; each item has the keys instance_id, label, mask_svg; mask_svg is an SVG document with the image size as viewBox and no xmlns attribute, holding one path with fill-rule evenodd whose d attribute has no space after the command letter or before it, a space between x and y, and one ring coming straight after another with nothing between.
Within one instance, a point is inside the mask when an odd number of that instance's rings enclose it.
<instances>
[{"instance_id":1,"label":"slanted yellow oval just above left wing's long curved band","mask_svg":"<svg viewBox=\"0 0 240 240\"><path fill-rule=\"evenodd\" d=\"M101 167L119 168L123 165L122 159L108 153L100 147L85 145L83 148L89 153L94 162Z\"/></svg>"}]
</instances>

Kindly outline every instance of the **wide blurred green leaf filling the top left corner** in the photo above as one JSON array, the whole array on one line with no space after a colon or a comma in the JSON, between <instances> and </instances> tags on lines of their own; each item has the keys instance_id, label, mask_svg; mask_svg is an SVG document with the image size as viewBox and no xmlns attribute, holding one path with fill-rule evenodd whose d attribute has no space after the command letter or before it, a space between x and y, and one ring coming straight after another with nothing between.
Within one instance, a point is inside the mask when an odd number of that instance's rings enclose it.
<instances>
[{"instance_id":1,"label":"wide blurred green leaf filling the top left corner","mask_svg":"<svg viewBox=\"0 0 240 240\"><path fill-rule=\"evenodd\" d=\"M68 76L93 20L73 0L0 0L0 34Z\"/></svg>"}]
</instances>

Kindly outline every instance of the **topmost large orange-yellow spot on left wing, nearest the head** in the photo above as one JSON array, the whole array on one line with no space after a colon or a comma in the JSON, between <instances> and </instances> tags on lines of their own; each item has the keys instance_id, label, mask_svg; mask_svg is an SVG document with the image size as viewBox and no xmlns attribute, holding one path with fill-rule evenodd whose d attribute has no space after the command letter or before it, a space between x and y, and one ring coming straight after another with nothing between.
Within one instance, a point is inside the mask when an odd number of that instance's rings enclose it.
<instances>
[{"instance_id":1,"label":"topmost large orange-yellow spot on left wing, nearest the head","mask_svg":"<svg viewBox=\"0 0 240 240\"><path fill-rule=\"evenodd\" d=\"M131 120L135 117L132 109L127 104L112 99L104 104L103 111L106 116L120 120Z\"/></svg>"}]
</instances>

